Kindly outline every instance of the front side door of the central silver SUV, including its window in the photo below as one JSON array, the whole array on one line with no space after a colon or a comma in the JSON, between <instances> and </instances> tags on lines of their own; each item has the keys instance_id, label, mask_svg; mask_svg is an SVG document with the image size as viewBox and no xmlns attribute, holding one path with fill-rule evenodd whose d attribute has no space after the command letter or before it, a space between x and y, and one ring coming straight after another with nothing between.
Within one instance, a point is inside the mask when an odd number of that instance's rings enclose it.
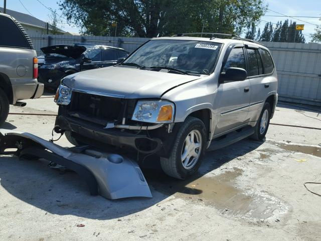
<instances>
[{"instance_id":1,"label":"front side door of the central silver SUV, including its window","mask_svg":"<svg viewBox=\"0 0 321 241\"><path fill-rule=\"evenodd\" d=\"M221 72L230 67L246 69L244 48L237 46L227 53L228 57L223 62ZM219 81L220 82L220 81ZM217 96L214 103L217 109L218 122L214 135L232 130L246 122L246 116L250 106L250 81L225 80L219 83Z\"/></svg>"}]
</instances>

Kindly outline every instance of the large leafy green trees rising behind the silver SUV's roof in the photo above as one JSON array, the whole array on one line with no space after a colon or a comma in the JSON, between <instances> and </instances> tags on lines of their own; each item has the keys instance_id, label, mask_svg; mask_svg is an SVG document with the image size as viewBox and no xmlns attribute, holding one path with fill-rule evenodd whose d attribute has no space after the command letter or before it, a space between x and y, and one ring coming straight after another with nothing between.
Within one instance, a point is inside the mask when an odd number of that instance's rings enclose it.
<instances>
[{"instance_id":1,"label":"large leafy green trees rising behind the silver SUV's roof","mask_svg":"<svg viewBox=\"0 0 321 241\"><path fill-rule=\"evenodd\" d=\"M156 37L184 32L241 34L266 11L262 0L60 0L83 34Z\"/></svg>"}]
</instances>

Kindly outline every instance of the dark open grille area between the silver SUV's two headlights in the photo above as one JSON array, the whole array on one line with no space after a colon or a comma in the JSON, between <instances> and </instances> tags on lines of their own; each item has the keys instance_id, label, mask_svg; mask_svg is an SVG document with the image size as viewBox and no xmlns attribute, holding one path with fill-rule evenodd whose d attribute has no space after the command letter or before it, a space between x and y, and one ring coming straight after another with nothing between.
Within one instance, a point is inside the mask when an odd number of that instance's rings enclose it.
<instances>
[{"instance_id":1,"label":"dark open grille area between the silver SUV's two headlights","mask_svg":"<svg viewBox=\"0 0 321 241\"><path fill-rule=\"evenodd\" d=\"M121 123L123 117L127 118L129 108L134 106L132 101L74 91L68 112L72 117L106 126L107 122Z\"/></svg>"}]
</instances>

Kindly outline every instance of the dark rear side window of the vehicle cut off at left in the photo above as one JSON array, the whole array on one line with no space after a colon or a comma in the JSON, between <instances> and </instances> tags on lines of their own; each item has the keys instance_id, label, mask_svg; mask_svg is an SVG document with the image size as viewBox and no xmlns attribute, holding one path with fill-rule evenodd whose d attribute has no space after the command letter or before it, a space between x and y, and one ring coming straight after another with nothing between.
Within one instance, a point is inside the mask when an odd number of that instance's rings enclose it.
<instances>
[{"instance_id":1,"label":"dark rear side window of the vehicle cut off at left","mask_svg":"<svg viewBox=\"0 0 321 241\"><path fill-rule=\"evenodd\" d=\"M0 16L0 46L30 49L26 37L17 24L5 16Z\"/></svg>"}]
</instances>

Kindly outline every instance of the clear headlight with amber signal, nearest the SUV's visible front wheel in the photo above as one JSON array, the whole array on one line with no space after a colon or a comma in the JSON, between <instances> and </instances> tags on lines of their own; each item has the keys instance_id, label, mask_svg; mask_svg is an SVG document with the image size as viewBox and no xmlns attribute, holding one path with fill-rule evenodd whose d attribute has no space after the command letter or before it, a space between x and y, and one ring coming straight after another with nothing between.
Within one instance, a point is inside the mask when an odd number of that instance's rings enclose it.
<instances>
[{"instance_id":1,"label":"clear headlight with amber signal, nearest the SUV's visible front wheel","mask_svg":"<svg viewBox=\"0 0 321 241\"><path fill-rule=\"evenodd\" d=\"M168 100L138 100L131 119L148 123L172 123L174 113L175 105Z\"/></svg>"}]
</instances>

